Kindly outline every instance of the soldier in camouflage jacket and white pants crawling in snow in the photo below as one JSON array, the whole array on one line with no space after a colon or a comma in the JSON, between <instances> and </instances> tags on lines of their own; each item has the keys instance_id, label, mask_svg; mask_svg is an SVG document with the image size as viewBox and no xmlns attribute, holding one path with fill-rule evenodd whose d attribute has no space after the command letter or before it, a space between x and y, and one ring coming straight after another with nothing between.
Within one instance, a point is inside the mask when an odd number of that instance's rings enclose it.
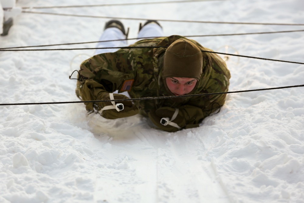
<instances>
[{"instance_id":1,"label":"soldier in camouflage jacket and white pants crawling in snow","mask_svg":"<svg viewBox=\"0 0 304 203\"><path fill-rule=\"evenodd\" d=\"M163 36L157 21L149 20L143 27L140 25L139 37L155 36ZM126 37L123 24L111 20L106 23L101 40ZM118 47L117 43L109 43L98 46ZM113 94L116 90L118 93L128 91L131 98L228 91L230 72L226 63L217 54L202 52L212 50L194 40L172 35L139 40L130 47L144 48L123 48L115 52L96 54L82 62L76 95L83 101L89 101L128 98L123 94ZM225 99L226 94L215 94L136 100L135 103L119 102L123 105L114 102L85 105L88 111L97 110L107 119L129 117L139 113L149 117L161 130L174 132L183 128L198 127L205 117L219 110Z\"/></svg>"}]
</instances>

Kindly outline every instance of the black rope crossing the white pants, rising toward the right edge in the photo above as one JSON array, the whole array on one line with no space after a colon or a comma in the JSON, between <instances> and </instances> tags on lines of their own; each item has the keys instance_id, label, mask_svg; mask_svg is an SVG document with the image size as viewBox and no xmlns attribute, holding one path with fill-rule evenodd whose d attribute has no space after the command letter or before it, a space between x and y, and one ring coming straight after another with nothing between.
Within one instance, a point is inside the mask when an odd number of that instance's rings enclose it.
<instances>
[{"instance_id":1,"label":"black rope crossing the white pants, rising toward the right edge","mask_svg":"<svg viewBox=\"0 0 304 203\"><path fill-rule=\"evenodd\" d=\"M234 36L234 35L250 35L250 34L273 34L273 33L291 33L291 32L304 32L304 30L286 30L286 31L274 31L274 32L256 32L256 33L234 33L234 34L209 34L209 35L188 35L184 37L215 37L215 36ZM163 36L165 37L165 36ZM90 44L90 43L99 43L99 42L110 42L110 41L124 41L124 40L139 40L146 38L156 38L156 37L137 37L137 38L127 38L119 40L103 40L103 41L92 41L92 42L76 42L76 43L65 43L65 44L48 44L48 45L35 45L35 46L26 46L26 47L3 47L0 48L0 51L3 49L17 49L17 48L31 48L31 47L50 47L50 46L61 46L61 45L73 45L73 44Z\"/></svg>"}]
</instances>

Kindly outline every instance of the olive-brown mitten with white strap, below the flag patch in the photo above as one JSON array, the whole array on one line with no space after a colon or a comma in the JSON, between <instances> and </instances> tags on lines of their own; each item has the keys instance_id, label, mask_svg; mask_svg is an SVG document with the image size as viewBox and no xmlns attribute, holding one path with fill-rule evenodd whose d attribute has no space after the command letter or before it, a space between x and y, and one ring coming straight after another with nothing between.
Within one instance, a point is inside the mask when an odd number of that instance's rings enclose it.
<instances>
[{"instance_id":1,"label":"olive-brown mitten with white strap, below the flag patch","mask_svg":"<svg viewBox=\"0 0 304 203\"><path fill-rule=\"evenodd\" d=\"M128 99L127 96L122 94L113 94L114 98L110 98L110 94L107 92L102 92L98 95L98 98L100 99L97 100ZM115 107L113 103L116 105ZM138 114L138 108L131 101L121 101L113 103L97 102L95 103L95 105L98 111L102 110L101 116L106 119L124 118Z\"/></svg>"}]
</instances>

